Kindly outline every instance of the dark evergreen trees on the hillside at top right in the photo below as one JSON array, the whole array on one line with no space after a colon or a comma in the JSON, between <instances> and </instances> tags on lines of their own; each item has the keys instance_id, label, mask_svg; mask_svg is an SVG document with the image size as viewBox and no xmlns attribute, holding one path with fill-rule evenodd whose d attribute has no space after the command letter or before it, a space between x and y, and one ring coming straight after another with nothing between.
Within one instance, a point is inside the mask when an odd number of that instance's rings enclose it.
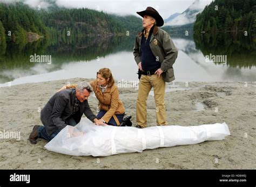
<instances>
[{"instance_id":1,"label":"dark evergreen trees on the hillside at top right","mask_svg":"<svg viewBox=\"0 0 256 187\"><path fill-rule=\"evenodd\" d=\"M194 32L256 32L256 0L215 0L196 17Z\"/></svg>"}]
</instances>

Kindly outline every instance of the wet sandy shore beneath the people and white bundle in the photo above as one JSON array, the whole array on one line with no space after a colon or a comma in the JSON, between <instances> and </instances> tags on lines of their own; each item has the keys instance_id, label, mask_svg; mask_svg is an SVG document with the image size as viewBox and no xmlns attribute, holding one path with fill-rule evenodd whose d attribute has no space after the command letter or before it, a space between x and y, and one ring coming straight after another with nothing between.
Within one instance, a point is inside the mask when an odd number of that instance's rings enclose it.
<instances>
[{"instance_id":1,"label":"wet sandy shore beneath the people and white bundle","mask_svg":"<svg viewBox=\"0 0 256 187\"><path fill-rule=\"evenodd\" d=\"M165 95L169 125L201 125L226 122L231 135L223 141L144 150L107 157L70 156L46 150L46 141L28 141L39 110L67 82L83 78L30 83L0 88L0 131L20 132L21 139L0 139L1 169L255 169L256 82L184 82L167 84ZM138 90L120 88L126 113L136 119ZM97 99L89 98L93 112ZM200 107L205 107L200 109ZM218 111L217 111L218 110ZM154 98L147 101L148 126L156 124Z\"/></svg>"}]
</instances>

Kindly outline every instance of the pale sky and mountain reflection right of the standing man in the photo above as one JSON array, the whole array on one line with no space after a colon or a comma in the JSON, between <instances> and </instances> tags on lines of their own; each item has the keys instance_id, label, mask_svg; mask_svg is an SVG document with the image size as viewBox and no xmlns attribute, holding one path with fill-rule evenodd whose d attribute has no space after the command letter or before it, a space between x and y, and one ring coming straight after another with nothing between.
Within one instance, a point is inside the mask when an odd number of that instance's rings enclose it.
<instances>
[{"instance_id":1,"label":"pale sky and mountain reflection right of the standing man","mask_svg":"<svg viewBox=\"0 0 256 187\"><path fill-rule=\"evenodd\" d=\"M173 67L176 79L180 81L256 81L256 61L251 60L243 66L240 61L232 62L232 55L227 55L227 63L207 62L206 55L225 53L217 53L213 49L208 54L203 54L193 40L179 38L173 42L179 49L178 59ZM256 55L249 53L251 56L248 56L248 59L255 59ZM247 61L246 55L244 61ZM247 66L248 64L250 66Z\"/></svg>"}]
</instances>

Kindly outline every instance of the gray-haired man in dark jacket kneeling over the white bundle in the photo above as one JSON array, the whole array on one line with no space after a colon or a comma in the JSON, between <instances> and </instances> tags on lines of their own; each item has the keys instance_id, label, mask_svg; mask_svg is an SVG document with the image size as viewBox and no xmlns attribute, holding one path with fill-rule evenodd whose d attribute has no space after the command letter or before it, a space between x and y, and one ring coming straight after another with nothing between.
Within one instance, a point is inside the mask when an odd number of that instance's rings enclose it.
<instances>
[{"instance_id":1,"label":"gray-haired man in dark jacket kneeling over the white bundle","mask_svg":"<svg viewBox=\"0 0 256 187\"><path fill-rule=\"evenodd\" d=\"M35 125L29 135L29 141L36 144L38 138L50 141L66 125L75 126L83 113L96 125L102 125L92 113L87 98L92 87L87 82L77 85L76 89L66 89L53 95L41 111L41 121L44 126Z\"/></svg>"}]
</instances>

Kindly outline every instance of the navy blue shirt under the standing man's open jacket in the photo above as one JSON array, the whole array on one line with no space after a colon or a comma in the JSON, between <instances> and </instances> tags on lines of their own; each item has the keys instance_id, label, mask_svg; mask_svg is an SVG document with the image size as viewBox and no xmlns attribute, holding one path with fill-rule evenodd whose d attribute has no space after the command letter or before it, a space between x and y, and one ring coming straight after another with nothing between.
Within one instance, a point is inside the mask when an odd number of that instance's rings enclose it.
<instances>
[{"instance_id":1,"label":"navy blue shirt under the standing man's open jacket","mask_svg":"<svg viewBox=\"0 0 256 187\"><path fill-rule=\"evenodd\" d=\"M161 63L157 61L150 48L150 38L153 33L154 26L151 27L149 36L146 38L142 35L142 44L140 47L142 57L142 69L144 71L156 70L161 67Z\"/></svg>"}]
</instances>

